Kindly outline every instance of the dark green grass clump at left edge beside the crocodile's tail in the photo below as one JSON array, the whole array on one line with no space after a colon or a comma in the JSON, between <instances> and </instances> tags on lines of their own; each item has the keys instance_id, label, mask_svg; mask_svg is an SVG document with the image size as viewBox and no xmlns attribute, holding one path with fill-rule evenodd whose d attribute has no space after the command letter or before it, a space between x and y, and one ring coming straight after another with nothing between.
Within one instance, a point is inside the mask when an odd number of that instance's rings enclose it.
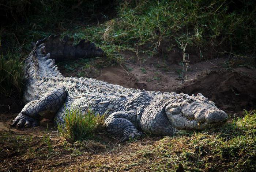
<instances>
[{"instance_id":1,"label":"dark green grass clump at left edge beside the crocodile's tail","mask_svg":"<svg viewBox=\"0 0 256 172\"><path fill-rule=\"evenodd\" d=\"M20 54L8 51L0 55L0 94L10 96L12 93L22 95L23 62Z\"/></svg>"}]
</instances>

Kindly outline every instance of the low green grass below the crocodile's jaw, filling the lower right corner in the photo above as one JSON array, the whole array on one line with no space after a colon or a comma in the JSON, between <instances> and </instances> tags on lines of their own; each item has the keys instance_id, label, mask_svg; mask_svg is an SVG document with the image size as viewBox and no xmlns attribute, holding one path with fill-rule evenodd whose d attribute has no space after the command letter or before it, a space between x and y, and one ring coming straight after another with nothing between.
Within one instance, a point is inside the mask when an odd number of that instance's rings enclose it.
<instances>
[{"instance_id":1,"label":"low green grass below the crocodile's jaw, filling the lower right corner","mask_svg":"<svg viewBox=\"0 0 256 172\"><path fill-rule=\"evenodd\" d=\"M255 145L256 111L245 111L244 118L222 128L165 137L137 153L143 161L157 160L152 170L175 169L181 163L187 171L255 171Z\"/></svg>"}]
</instances>

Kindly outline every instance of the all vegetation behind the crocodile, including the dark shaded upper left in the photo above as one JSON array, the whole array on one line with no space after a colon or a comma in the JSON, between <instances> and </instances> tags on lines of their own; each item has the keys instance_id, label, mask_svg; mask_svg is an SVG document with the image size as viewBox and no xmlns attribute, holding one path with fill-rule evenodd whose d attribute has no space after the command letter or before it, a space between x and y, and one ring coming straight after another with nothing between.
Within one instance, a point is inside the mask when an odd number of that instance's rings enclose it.
<instances>
[{"instance_id":1,"label":"all vegetation behind the crocodile, including the dark shaded upper left","mask_svg":"<svg viewBox=\"0 0 256 172\"><path fill-rule=\"evenodd\" d=\"M16 63L31 51L31 42L59 33L74 36L76 41L86 38L101 46L108 54L107 63L102 64L123 62L117 53L120 50L151 56L159 49L168 53L173 48L183 54L180 61L188 60L190 53L207 58L211 51L218 56L227 54L230 60L240 57L246 59L243 62L252 62L256 47L255 6L253 0L3 1L1 70L13 75ZM22 58L15 54L22 54ZM19 62L5 65L10 60ZM5 68L10 65L13 67ZM4 80L0 77L0 81ZM21 85L18 83L18 88L12 90L19 92ZM2 87L1 94L9 93Z\"/></svg>"}]
</instances>

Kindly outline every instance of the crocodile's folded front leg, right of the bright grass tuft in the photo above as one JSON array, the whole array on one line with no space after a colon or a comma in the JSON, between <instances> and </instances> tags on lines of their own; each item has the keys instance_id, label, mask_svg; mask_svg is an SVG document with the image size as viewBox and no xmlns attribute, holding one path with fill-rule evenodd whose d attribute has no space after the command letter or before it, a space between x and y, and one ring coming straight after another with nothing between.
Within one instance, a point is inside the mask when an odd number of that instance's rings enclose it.
<instances>
[{"instance_id":1,"label":"crocodile's folded front leg, right of the bright grass tuft","mask_svg":"<svg viewBox=\"0 0 256 172\"><path fill-rule=\"evenodd\" d=\"M111 134L120 138L121 142L144 135L135 127L138 127L136 111L114 112L106 118L105 126Z\"/></svg>"}]
</instances>

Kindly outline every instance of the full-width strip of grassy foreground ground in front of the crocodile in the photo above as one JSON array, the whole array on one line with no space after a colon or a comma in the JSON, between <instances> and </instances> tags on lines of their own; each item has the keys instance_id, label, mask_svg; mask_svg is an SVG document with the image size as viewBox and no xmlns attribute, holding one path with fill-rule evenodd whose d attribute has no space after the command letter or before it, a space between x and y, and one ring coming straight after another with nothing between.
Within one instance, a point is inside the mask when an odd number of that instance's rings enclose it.
<instances>
[{"instance_id":1,"label":"full-width strip of grassy foreground ground in front of the crocodile","mask_svg":"<svg viewBox=\"0 0 256 172\"><path fill-rule=\"evenodd\" d=\"M256 111L245 111L218 129L124 144L102 139L105 134L69 144L50 131L37 131L36 137L30 136L32 130L29 136L11 133L0 133L0 168L5 171L36 171L42 165L53 171L175 171L179 164L185 171L256 170Z\"/></svg>"}]
</instances>

